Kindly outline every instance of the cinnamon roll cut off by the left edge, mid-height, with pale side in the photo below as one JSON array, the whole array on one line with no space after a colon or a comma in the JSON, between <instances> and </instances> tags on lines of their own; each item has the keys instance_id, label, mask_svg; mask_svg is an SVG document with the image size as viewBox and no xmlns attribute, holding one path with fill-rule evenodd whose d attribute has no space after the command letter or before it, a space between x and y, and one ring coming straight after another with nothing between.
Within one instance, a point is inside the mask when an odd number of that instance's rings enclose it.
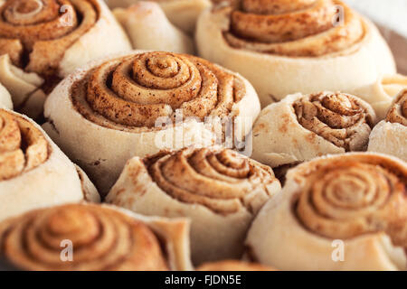
<instances>
[{"instance_id":1,"label":"cinnamon roll cut off by the left edge, mid-height, with pale side","mask_svg":"<svg viewBox=\"0 0 407 289\"><path fill-rule=\"evenodd\" d=\"M80 200L99 200L86 174L33 120L0 108L0 219Z\"/></svg>"}]
</instances>

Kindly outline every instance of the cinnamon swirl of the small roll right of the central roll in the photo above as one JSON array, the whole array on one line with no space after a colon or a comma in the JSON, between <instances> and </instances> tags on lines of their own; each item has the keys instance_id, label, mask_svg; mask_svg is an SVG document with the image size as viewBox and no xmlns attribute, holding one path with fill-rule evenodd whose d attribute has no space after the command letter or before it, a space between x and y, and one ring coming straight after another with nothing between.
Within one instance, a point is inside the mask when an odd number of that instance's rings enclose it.
<instances>
[{"instance_id":1,"label":"cinnamon swirl of the small roll right of the central roll","mask_svg":"<svg viewBox=\"0 0 407 289\"><path fill-rule=\"evenodd\" d=\"M293 104L298 123L345 151L362 151L374 126L372 107L345 93L323 92Z\"/></svg>"}]
</instances>

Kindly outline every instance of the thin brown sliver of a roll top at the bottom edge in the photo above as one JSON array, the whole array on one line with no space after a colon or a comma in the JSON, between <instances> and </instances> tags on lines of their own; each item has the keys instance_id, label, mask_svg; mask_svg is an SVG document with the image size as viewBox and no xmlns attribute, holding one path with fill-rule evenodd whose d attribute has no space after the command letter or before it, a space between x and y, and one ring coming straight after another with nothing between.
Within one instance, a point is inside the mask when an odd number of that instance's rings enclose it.
<instances>
[{"instance_id":1,"label":"thin brown sliver of a roll top at the bottom edge","mask_svg":"<svg viewBox=\"0 0 407 289\"><path fill-rule=\"evenodd\" d=\"M275 271L269 266L238 260L223 260L205 263L197 268L198 271Z\"/></svg>"}]
</instances>

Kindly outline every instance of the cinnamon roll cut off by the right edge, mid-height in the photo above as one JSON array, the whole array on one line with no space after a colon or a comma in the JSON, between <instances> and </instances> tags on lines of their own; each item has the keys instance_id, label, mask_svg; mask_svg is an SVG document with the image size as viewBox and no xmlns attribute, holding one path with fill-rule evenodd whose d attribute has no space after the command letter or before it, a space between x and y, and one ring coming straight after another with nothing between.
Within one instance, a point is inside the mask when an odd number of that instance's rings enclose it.
<instances>
[{"instance_id":1,"label":"cinnamon roll cut off by the right edge, mid-height","mask_svg":"<svg viewBox=\"0 0 407 289\"><path fill-rule=\"evenodd\" d=\"M407 162L407 89L394 99L386 119L374 126L368 151L392 154Z\"/></svg>"}]
</instances>

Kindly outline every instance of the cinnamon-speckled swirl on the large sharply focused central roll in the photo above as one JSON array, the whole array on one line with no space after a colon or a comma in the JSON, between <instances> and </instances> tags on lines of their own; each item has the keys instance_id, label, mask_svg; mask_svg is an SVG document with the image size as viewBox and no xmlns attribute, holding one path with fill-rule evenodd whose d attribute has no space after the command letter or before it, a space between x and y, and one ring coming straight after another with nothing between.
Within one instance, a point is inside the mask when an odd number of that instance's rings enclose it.
<instances>
[{"instance_id":1,"label":"cinnamon-speckled swirl on the large sharply focused central roll","mask_svg":"<svg viewBox=\"0 0 407 289\"><path fill-rule=\"evenodd\" d=\"M146 52L107 61L74 85L80 113L100 126L152 128L158 117L225 117L243 98L240 79L194 56ZM96 114L95 114L96 112Z\"/></svg>"}]
</instances>

